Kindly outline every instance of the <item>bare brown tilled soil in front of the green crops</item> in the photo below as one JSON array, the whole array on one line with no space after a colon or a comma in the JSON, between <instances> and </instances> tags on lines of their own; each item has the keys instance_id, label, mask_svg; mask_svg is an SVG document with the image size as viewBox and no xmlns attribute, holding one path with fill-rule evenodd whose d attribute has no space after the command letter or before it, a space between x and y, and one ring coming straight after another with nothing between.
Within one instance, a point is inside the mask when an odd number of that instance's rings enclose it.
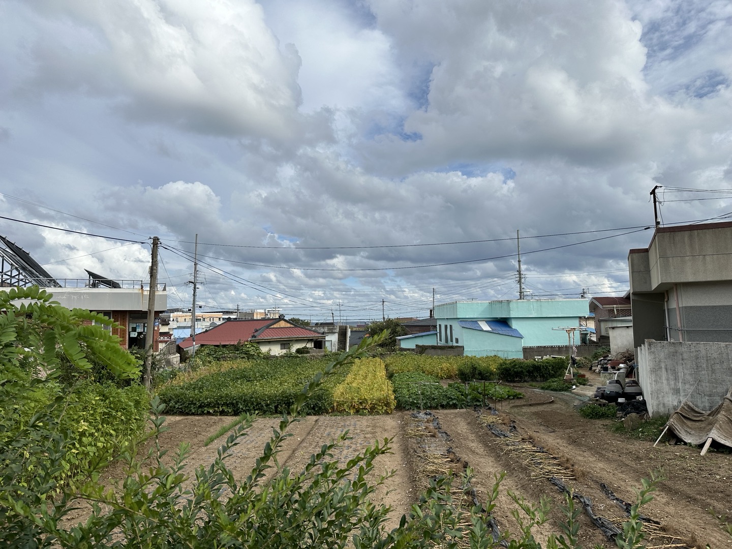
<instances>
[{"instance_id":1,"label":"bare brown tilled soil in front of the green crops","mask_svg":"<svg viewBox=\"0 0 732 549\"><path fill-rule=\"evenodd\" d=\"M444 448L432 448L430 452L452 452L453 459L466 463L473 471L471 486L477 490L479 501L485 501L496 477L506 472L493 512L498 529L512 532L517 529L511 513L517 505L510 492L533 504L542 496L552 502L550 519L534 531L539 541L543 542L551 533L560 533L563 517L558 504L563 504L564 495L550 482L548 474L537 468L535 454L528 450L541 447L548 452L542 453L543 458L556 458L550 459L552 474L563 476L567 488L589 498L595 515L610 520L621 521L627 515L601 485L621 500L632 503L634 489L641 485L641 479L648 478L649 471L662 468L665 480L654 494L654 501L643 507L643 514L659 523L654 526L649 547L732 548L732 539L720 524L722 520L732 520L732 455L709 452L701 457L698 448L680 444L660 443L654 448L651 442L632 441L611 433L607 421L580 417L573 409L578 400L572 395L526 387L521 390L525 398L498 403L490 420L496 422L498 430L509 433L512 440L520 440L520 447L488 429L485 417L480 416L490 411L433 411L444 432L438 444ZM554 400L548 402L552 397ZM225 436L208 447L203 447L203 441L231 419L170 417L165 424L170 430L160 436L160 444L174 451L182 441L188 442L190 457L186 472L193 477L196 466L208 465L215 458ZM228 466L236 477L243 478L250 473L278 422L276 418L257 419L241 444L234 448ZM421 461L425 460L425 443L414 436L414 419L409 412L389 416L303 418L291 427L293 436L285 441L278 456L280 468L302 470L310 455L344 430L348 430L350 439L332 452L333 458L342 464L374 441L391 439L391 453L375 462L374 479L384 471L393 471L392 477L378 488L376 500L392 507L386 527L396 527L401 515L418 500L425 482L426 464ZM109 472L111 479L119 478L120 471ZM585 513L580 522L580 539L585 547L615 545Z\"/></svg>"}]
</instances>

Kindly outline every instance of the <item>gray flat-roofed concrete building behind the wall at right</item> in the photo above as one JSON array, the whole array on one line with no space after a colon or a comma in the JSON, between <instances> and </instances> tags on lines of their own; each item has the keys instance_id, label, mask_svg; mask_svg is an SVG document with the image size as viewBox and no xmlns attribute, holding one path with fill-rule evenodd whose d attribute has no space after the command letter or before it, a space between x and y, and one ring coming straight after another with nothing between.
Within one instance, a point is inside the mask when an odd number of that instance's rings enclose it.
<instances>
[{"instance_id":1,"label":"gray flat-roofed concrete building behind the wall at right","mask_svg":"<svg viewBox=\"0 0 732 549\"><path fill-rule=\"evenodd\" d=\"M658 227L628 268L635 347L732 343L732 223Z\"/></svg>"}]
</instances>

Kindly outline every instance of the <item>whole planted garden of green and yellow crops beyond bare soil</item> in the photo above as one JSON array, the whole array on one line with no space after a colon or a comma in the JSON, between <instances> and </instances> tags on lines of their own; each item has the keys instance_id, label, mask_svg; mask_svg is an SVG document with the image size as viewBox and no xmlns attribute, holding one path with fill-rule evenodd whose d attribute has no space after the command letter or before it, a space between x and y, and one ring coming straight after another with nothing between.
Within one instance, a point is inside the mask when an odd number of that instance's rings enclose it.
<instances>
[{"instance_id":1,"label":"whole planted garden of green and yellow crops beyond bare soil","mask_svg":"<svg viewBox=\"0 0 732 549\"><path fill-rule=\"evenodd\" d=\"M228 357L223 351L209 356ZM208 359L157 391L174 414L281 414L328 359L313 356ZM390 414L395 408L466 408L523 397L498 382L545 381L564 373L566 360L399 353L344 366L318 388L305 414ZM460 381L458 381L460 380ZM477 383L474 383L477 382ZM485 382L485 383L483 383Z\"/></svg>"}]
</instances>

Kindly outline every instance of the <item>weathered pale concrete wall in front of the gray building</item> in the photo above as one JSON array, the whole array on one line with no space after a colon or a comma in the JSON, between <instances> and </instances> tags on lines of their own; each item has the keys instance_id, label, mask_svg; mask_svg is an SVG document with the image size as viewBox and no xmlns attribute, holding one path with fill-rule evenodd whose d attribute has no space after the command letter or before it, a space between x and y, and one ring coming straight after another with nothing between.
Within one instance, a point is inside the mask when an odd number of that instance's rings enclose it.
<instances>
[{"instance_id":1,"label":"weathered pale concrete wall in front of the gray building","mask_svg":"<svg viewBox=\"0 0 732 549\"><path fill-rule=\"evenodd\" d=\"M646 340L635 362L651 417L673 413L687 398L711 410L732 386L732 343Z\"/></svg>"}]
</instances>

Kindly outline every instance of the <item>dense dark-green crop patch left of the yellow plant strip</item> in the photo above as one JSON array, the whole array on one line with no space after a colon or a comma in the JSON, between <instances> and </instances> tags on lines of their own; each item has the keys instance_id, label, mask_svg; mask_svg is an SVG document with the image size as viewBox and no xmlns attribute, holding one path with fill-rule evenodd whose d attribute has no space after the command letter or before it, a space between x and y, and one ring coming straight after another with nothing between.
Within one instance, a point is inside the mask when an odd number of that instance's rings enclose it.
<instances>
[{"instance_id":1,"label":"dense dark-green crop patch left of the yellow plant strip","mask_svg":"<svg viewBox=\"0 0 732 549\"><path fill-rule=\"evenodd\" d=\"M302 387L329 362L324 358L288 356L234 361L238 367L210 373L183 384L164 386L158 395L172 414L282 414ZM348 374L328 378L310 400L305 414L326 414L333 408L333 389Z\"/></svg>"}]
</instances>

